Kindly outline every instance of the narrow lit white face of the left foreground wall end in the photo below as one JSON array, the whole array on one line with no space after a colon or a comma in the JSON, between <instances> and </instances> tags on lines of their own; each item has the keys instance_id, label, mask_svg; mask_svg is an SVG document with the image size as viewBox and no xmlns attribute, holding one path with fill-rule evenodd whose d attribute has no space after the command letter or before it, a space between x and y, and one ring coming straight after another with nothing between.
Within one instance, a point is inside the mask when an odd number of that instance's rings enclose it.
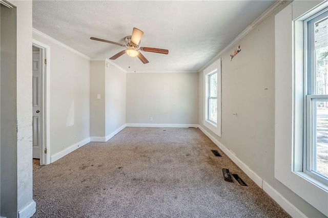
<instances>
[{"instance_id":1,"label":"narrow lit white face of the left foreground wall end","mask_svg":"<svg viewBox=\"0 0 328 218\"><path fill-rule=\"evenodd\" d=\"M32 200L32 2L17 1L17 209L35 211ZM27 206L27 208L25 208Z\"/></svg>"}]
</instances>

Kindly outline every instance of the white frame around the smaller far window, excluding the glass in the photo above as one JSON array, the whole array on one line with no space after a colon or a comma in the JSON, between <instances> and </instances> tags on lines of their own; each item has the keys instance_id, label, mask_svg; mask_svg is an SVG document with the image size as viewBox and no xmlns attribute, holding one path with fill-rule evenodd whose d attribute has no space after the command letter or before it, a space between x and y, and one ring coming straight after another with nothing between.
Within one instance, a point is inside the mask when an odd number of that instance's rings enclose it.
<instances>
[{"instance_id":1,"label":"white frame around the smaller far window, excluding the glass","mask_svg":"<svg viewBox=\"0 0 328 218\"><path fill-rule=\"evenodd\" d=\"M209 75L217 73L217 123L209 120ZM203 124L221 137L221 58L203 70L204 80L204 116Z\"/></svg>"}]
</instances>

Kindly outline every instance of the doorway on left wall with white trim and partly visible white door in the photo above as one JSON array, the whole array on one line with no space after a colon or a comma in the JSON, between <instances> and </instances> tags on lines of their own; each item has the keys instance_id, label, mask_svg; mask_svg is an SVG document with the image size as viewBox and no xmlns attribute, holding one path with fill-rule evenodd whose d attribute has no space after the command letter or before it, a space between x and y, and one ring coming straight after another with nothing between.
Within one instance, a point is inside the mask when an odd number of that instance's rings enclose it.
<instances>
[{"instance_id":1,"label":"doorway on left wall with white trim and partly visible white door","mask_svg":"<svg viewBox=\"0 0 328 218\"><path fill-rule=\"evenodd\" d=\"M32 44L33 70L33 169L51 163L49 116L50 48L41 42Z\"/></svg>"}]
</instances>

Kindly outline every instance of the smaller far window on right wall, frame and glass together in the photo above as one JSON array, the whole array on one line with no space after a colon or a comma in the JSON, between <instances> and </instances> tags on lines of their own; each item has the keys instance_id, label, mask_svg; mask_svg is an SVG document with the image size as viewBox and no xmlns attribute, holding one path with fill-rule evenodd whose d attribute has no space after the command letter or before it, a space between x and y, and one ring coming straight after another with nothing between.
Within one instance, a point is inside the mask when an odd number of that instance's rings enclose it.
<instances>
[{"instance_id":1,"label":"smaller far window on right wall, frame and glass together","mask_svg":"<svg viewBox=\"0 0 328 218\"><path fill-rule=\"evenodd\" d=\"M221 136L221 59L204 70L203 124Z\"/></svg>"}]
</instances>

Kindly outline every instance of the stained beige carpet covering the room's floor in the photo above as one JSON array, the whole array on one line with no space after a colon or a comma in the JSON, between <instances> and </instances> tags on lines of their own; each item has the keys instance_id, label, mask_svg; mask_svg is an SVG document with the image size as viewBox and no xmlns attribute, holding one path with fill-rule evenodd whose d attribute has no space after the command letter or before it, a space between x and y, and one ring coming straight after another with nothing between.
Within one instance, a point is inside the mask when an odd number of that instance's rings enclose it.
<instances>
[{"instance_id":1,"label":"stained beige carpet covering the room's floor","mask_svg":"<svg viewBox=\"0 0 328 218\"><path fill-rule=\"evenodd\" d=\"M34 169L33 199L33 217L289 217L197 128L127 127L89 143Z\"/></svg>"}]
</instances>

